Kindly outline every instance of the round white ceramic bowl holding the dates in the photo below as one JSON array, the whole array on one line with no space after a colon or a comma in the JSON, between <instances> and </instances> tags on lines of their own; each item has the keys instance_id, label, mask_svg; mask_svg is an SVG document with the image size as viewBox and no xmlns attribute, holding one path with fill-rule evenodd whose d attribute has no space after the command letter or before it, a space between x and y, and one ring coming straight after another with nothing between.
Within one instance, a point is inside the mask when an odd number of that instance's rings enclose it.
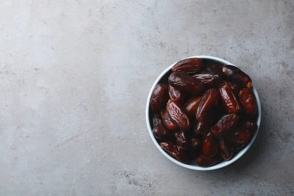
<instances>
[{"instance_id":1,"label":"round white ceramic bowl holding the dates","mask_svg":"<svg viewBox=\"0 0 294 196\"><path fill-rule=\"evenodd\" d=\"M234 65L226 60L223 60L221 58L218 57L214 57L214 56L191 56L188 58L201 58L203 60L209 60L209 61L214 61L214 62L218 62L221 63L223 65ZM175 64L175 63L174 63ZM194 162L194 160L189 161L187 164L182 163L180 161L178 161L177 159L173 158L170 154L168 154L166 151L164 151L161 147L159 142L156 141L154 135L152 134L152 129L151 129L151 124L152 124L152 119L150 118L150 114L152 113L151 108L150 108L150 98L151 98L151 94L155 88L155 86L158 83L167 83L168 82L168 77L169 75L172 73L172 66L174 65L172 64L170 67L168 67L163 73L161 73L158 78L156 79L156 81L154 82L148 99L147 99L147 105L146 105L146 122L147 122L147 128L149 131L149 134L151 136L152 141L154 142L155 146L159 149L159 151L161 151L162 154L164 154L168 159L170 159L173 163L176 163L182 167L185 168L189 168L192 170L201 170L201 171L208 171L208 170L216 170L216 169L220 169L223 168L227 165L230 165L231 163L235 162L237 159L239 159L243 154L245 154L245 152L249 149L249 147L251 147L251 145L253 144L256 135L258 133L259 130L259 126L260 126L260 121L261 121L261 107L260 107L260 100L258 97L258 94L256 92L256 89L254 88L254 85L251 87L252 91L256 97L256 102L257 102L257 120L256 123L258 125L257 131L255 132L255 135L253 136L253 138L251 139L251 141L247 144L247 146L245 148L243 148L241 151L239 151L237 154L234 154L234 157L229 160L229 161L222 161L221 163L211 166L211 167L200 167L198 165L196 165L196 163ZM235 65L234 65L235 66Z\"/></svg>"}]
</instances>

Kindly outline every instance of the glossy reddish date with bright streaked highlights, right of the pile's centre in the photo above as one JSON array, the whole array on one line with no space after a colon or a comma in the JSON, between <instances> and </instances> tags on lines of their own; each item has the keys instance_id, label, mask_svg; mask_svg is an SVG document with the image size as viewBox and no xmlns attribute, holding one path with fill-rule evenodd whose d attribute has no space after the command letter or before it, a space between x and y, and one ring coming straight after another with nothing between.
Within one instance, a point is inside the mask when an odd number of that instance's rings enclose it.
<instances>
[{"instance_id":1,"label":"glossy reddish date with bright streaked highlights, right of the pile's centre","mask_svg":"<svg viewBox=\"0 0 294 196\"><path fill-rule=\"evenodd\" d=\"M231 87L223 82L218 87L219 93L221 95L221 103L223 107L227 110L229 114L238 113L241 111L241 105L234 95Z\"/></svg>"}]
</instances>

